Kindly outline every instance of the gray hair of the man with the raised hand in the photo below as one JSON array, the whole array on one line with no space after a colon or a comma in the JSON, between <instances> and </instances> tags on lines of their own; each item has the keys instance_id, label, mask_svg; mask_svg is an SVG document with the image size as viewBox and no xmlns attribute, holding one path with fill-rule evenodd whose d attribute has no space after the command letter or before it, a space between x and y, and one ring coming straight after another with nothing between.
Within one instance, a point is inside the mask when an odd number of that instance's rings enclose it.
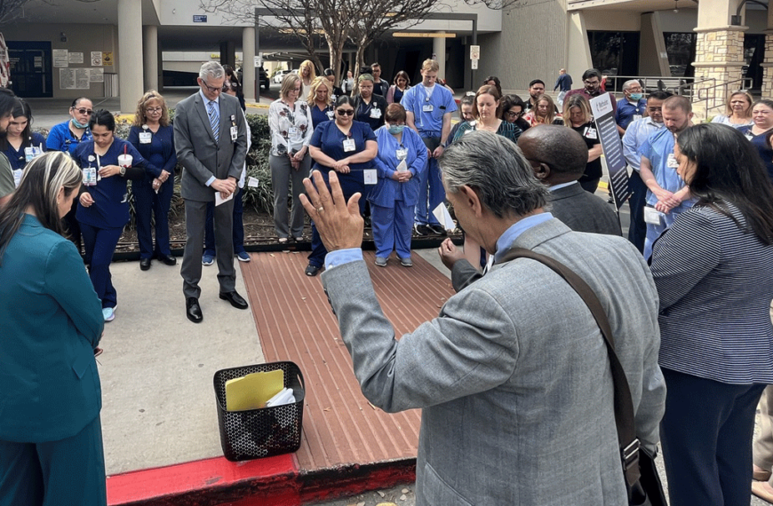
<instances>
[{"instance_id":1,"label":"gray hair of the man with the raised hand","mask_svg":"<svg viewBox=\"0 0 773 506\"><path fill-rule=\"evenodd\" d=\"M497 217L525 216L546 205L548 191L534 176L521 148L500 135L471 131L438 159L451 194L470 186Z\"/></svg>"}]
</instances>

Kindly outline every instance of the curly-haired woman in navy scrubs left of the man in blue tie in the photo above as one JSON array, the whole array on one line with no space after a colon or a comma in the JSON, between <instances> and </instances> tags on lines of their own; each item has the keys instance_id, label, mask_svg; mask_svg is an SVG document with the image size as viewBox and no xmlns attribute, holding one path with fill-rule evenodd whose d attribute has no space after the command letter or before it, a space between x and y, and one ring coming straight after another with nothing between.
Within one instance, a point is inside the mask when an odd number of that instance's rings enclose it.
<instances>
[{"instance_id":1,"label":"curly-haired woman in navy scrubs left of the man in blue tie","mask_svg":"<svg viewBox=\"0 0 773 506\"><path fill-rule=\"evenodd\" d=\"M147 160L147 174L131 184L139 241L139 268L147 271L155 257L175 265L169 248L169 207L174 193L174 131L169 110L158 91L147 91L137 103L137 113L129 130L129 142ZM155 249L150 231L151 211L155 217Z\"/></svg>"}]
</instances>

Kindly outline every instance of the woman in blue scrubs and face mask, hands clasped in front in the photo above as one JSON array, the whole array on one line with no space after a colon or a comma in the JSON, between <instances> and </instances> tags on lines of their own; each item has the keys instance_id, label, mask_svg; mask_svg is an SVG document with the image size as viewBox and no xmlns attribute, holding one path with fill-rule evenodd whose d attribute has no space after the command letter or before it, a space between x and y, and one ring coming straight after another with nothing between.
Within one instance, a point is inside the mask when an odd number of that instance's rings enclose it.
<instances>
[{"instance_id":1,"label":"woman in blue scrubs and face mask, hands clasped in front","mask_svg":"<svg viewBox=\"0 0 773 506\"><path fill-rule=\"evenodd\" d=\"M371 223L376 265L386 267L394 249L403 267L410 260L413 213L418 202L418 174L426 166L426 146L418 133L405 128L405 108L386 107L386 124L376 130L379 143L379 183L371 191Z\"/></svg>"}]
</instances>

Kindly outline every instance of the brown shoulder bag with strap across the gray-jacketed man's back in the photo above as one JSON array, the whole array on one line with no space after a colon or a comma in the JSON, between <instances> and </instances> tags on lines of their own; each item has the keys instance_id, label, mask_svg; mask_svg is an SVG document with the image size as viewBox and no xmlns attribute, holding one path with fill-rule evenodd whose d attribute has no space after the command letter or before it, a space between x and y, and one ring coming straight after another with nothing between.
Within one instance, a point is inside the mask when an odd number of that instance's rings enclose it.
<instances>
[{"instance_id":1,"label":"brown shoulder bag with strap across the gray-jacketed man's back","mask_svg":"<svg viewBox=\"0 0 773 506\"><path fill-rule=\"evenodd\" d=\"M636 438L636 421L634 418L634 401L631 399L631 389L628 386L626 373L615 353L612 340L612 329L602 303L594 290L566 265L545 255L535 253L530 249L510 249L498 264L509 262L515 258L530 258L546 265L567 281L578 293L594 315L596 324L602 331L604 344L610 357L612 383L614 385L615 426L618 431L620 461L623 475L626 478L628 504L630 506L666 506L663 484L655 467L655 456L642 448Z\"/></svg>"}]
</instances>

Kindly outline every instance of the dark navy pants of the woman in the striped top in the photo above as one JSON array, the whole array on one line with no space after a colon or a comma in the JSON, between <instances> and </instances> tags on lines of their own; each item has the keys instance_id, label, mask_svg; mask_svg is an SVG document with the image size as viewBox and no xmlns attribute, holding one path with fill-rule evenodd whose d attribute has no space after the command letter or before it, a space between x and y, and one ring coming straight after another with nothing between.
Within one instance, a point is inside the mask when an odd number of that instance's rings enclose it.
<instances>
[{"instance_id":1,"label":"dark navy pants of the woman in the striped top","mask_svg":"<svg viewBox=\"0 0 773 506\"><path fill-rule=\"evenodd\" d=\"M748 506L754 413L764 384L728 384L663 368L660 423L671 506Z\"/></svg>"}]
</instances>

